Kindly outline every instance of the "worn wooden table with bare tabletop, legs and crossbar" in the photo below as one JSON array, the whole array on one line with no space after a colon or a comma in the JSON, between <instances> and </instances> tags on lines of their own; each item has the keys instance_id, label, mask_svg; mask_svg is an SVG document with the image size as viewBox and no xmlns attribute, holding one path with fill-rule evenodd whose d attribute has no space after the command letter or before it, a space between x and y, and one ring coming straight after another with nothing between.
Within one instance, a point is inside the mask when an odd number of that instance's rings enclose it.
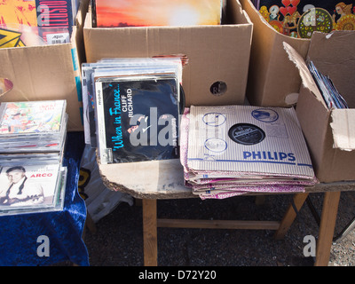
<instances>
[{"instance_id":1,"label":"worn wooden table with bare tabletop, legs and crossbar","mask_svg":"<svg viewBox=\"0 0 355 284\"><path fill-rule=\"evenodd\" d=\"M99 163L99 170L108 188L130 193L134 198L142 199L144 264L146 266L158 264L158 227L275 230L275 238L282 239L296 218L295 209L302 208L309 193L324 193L315 265L326 266L329 262L335 231L340 193L355 190L355 181L309 187L305 193L294 194L293 204L291 202L280 221L162 219L157 217L157 200L196 198L196 195L184 185L183 169L178 160L109 165ZM248 195L257 195L257 193Z\"/></svg>"}]
</instances>

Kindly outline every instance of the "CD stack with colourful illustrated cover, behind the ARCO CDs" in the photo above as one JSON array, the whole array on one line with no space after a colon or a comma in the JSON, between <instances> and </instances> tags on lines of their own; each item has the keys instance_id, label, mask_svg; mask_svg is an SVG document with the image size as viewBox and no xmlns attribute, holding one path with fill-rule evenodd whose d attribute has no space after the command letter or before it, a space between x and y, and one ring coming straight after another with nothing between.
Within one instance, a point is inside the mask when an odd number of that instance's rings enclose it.
<instances>
[{"instance_id":1,"label":"CD stack with colourful illustrated cover, behind the ARCO CDs","mask_svg":"<svg viewBox=\"0 0 355 284\"><path fill-rule=\"evenodd\" d=\"M60 151L67 133L66 109L66 100L2 103L0 153Z\"/></svg>"}]
</instances>

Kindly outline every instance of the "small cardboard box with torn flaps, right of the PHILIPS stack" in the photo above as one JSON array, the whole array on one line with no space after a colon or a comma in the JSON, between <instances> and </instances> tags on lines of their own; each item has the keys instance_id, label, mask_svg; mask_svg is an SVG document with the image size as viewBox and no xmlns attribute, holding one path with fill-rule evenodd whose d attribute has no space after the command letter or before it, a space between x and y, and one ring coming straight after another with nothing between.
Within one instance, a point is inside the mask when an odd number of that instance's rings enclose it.
<instances>
[{"instance_id":1,"label":"small cardboard box with torn flaps, right of the PHILIPS stack","mask_svg":"<svg viewBox=\"0 0 355 284\"><path fill-rule=\"evenodd\" d=\"M303 57L285 43L296 63L302 86L296 113L321 182L355 180L355 32L314 33L307 57L323 75L329 75L349 109L329 110Z\"/></svg>"}]
</instances>

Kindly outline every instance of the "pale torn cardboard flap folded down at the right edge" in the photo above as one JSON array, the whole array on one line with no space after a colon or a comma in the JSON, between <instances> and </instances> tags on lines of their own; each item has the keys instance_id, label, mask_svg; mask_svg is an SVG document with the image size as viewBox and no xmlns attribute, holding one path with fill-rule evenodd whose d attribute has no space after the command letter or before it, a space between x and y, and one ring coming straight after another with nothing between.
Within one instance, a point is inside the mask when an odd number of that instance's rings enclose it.
<instances>
[{"instance_id":1,"label":"pale torn cardboard flap folded down at the right edge","mask_svg":"<svg viewBox=\"0 0 355 284\"><path fill-rule=\"evenodd\" d=\"M331 117L334 147L343 151L355 150L355 109L334 109Z\"/></svg>"}]
</instances>

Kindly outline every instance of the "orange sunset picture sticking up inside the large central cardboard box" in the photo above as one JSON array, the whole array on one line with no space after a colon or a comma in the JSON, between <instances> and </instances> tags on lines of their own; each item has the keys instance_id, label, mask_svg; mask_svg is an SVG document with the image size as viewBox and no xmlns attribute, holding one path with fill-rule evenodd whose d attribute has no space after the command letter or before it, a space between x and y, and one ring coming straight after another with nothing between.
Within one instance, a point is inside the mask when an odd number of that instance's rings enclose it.
<instances>
[{"instance_id":1,"label":"orange sunset picture sticking up inside the large central cardboard box","mask_svg":"<svg viewBox=\"0 0 355 284\"><path fill-rule=\"evenodd\" d=\"M96 0L97 27L218 25L221 0Z\"/></svg>"}]
</instances>

